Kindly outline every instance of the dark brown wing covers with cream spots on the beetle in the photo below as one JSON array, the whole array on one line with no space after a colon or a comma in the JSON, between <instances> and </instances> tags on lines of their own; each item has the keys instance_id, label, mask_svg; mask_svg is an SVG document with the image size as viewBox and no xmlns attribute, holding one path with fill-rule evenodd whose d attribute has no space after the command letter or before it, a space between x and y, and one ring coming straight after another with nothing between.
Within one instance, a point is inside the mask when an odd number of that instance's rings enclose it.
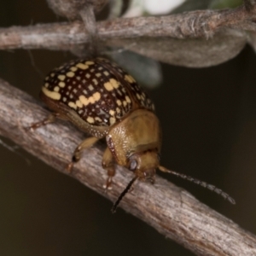
<instances>
[{"instance_id":1,"label":"dark brown wing covers with cream spots on the beetle","mask_svg":"<svg viewBox=\"0 0 256 256\"><path fill-rule=\"evenodd\" d=\"M113 125L136 108L154 111L154 104L131 75L102 58L56 68L44 79L42 92L72 108L90 125Z\"/></svg>"}]
</instances>

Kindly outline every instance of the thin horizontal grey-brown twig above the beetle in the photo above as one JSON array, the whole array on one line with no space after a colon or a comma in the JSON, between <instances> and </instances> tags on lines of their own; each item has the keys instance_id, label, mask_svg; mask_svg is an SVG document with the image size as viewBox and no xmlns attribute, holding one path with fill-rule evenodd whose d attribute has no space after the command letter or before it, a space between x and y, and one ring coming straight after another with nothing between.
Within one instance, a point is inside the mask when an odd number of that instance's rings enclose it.
<instances>
[{"instance_id":1,"label":"thin horizontal grey-brown twig above the beetle","mask_svg":"<svg viewBox=\"0 0 256 256\"><path fill-rule=\"evenodd\" d=\"M256 31L253 19L256 4L250 11L244 6L231 10L200 10L163 17L137 17L98 22L103 42L121 38L209 38L224 28ZM12 26L0 29L0 49L70 49L73 44L88 42L82 22L37 26Z\"/></svg>"}]
</instances>

